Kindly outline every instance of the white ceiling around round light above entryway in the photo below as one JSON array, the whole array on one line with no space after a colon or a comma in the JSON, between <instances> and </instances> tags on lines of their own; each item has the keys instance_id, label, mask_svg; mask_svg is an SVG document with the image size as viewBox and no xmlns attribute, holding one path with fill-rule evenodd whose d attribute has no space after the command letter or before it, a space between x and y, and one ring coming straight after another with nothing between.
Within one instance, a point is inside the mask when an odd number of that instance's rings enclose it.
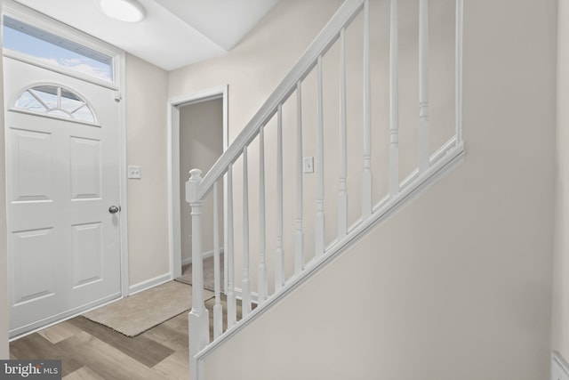
<instances>
[{"instance_id":1,"label":"white ceiling around round light above entryway","mask_svg":"<svg viewBox=\"0 0 569 380\"><path fill-rule=\"evenodd\" d=\"M146 18L110 19L95 0L16 0L166 70L227 53L278 0L139 0Z\"/></svg>"}]
</instances>

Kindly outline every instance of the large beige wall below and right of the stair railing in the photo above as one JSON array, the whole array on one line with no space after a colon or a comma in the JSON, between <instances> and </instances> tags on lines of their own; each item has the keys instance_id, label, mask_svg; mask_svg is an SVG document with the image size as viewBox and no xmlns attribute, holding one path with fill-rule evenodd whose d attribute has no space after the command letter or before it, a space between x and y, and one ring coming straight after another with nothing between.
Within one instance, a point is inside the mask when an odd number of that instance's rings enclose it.
<instances>
[{"instance_id":1,"label":"large beige wall below and right of the stair railing","mask_svg":"<svg viewBox=\"0 0 569 380\"><path fill-rule=\"evenodd\" d=\"M548 378L557 1L464 12L465 163L213 352L208 380Z\"/></svg>"}]
</instances>

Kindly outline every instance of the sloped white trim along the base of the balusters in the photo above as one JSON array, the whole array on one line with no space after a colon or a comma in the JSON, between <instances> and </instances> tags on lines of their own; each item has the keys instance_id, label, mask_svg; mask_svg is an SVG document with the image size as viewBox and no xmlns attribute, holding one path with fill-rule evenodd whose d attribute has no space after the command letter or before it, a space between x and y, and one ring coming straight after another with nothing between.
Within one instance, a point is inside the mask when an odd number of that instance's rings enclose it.
<instances>
[{"instance_id":1,"label":"sloped white trim along the base of the balusters","mask_svg":"<svg viewBox=\"0 0 569 380\"><path fill-rule=\"evenodd\" d=\"M201 365L204 363L205 358L212 354L212 352L215 352L221 345L225 344L233 336L236 336L239 331L251 324L253 320L259 318L262 314L283 300L284 297L291 294L295 288L314 277L317 272L323 270L329 263L332 263L335 258L345 251L345 248L355 244L359 239L362 239L369 230L386 220L389 216L395 214L397 210L408 203L408 199L421 195L422 192L438 182L443 175L448 174L453 168L461 164L463 160L464 145L458 143L452 150L448 151L444 157L439 159L433 166L430 166L424 174L417 177L417 181L399 191L381 210L374 210L370 218L360 223L357 228L350 230L346 238L334 244L333 247L325 252L325 255L322 255L317 260L313 259L310 261L306 265L306 269L302 271L299 276L293 276L293 278L289 279L284 284L284 287L268 297L262 306L254 309L247 317L244 317L238 324L234 325L234 327L228 328L217 341L212 342L212 344L206 346L204 350L198 352L195 358L190 358L192 359L192 363L194 365L197 364L197 368L202 368ZM198 373L198 378L200 378L199 376L203 376L203 372Z\"/></svg>"}]
</instances>

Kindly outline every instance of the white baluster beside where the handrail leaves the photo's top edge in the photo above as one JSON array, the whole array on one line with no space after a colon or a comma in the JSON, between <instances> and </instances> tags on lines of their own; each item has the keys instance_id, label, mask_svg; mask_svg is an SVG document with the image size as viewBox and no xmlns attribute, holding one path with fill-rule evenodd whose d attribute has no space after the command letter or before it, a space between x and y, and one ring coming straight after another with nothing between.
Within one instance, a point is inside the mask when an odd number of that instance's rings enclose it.
<instances>
[{"instance_id":1,"label":"white baluster beside where the handrail leaves the photo's top edge","mask_svg":"<svg viewBox=\"0 0 569 380\"><path fill-rule=\"evenodd\" d=\"M370 75L370 3L364 3L364 173L362 219L372 215L372 78Z\"/></svg>"}]
</instances>

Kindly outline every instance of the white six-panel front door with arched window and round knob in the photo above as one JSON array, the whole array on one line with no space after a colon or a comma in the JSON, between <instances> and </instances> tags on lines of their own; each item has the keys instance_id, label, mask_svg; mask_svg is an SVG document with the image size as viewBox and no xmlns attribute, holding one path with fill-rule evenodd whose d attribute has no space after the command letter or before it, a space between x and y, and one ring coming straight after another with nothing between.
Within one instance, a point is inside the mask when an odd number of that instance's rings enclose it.
<instances>
[{"instance_id":1,"label":"white six-panel front door with arched window and round knob","mask_svg":"<svg viewBox=\"0 0 569 380\"><path fill-rule=\"evenodd\" d=\"M11 58L4 103L19 336L121 295L119 110L113 90Z\"/></svg>"}]
</instances>

